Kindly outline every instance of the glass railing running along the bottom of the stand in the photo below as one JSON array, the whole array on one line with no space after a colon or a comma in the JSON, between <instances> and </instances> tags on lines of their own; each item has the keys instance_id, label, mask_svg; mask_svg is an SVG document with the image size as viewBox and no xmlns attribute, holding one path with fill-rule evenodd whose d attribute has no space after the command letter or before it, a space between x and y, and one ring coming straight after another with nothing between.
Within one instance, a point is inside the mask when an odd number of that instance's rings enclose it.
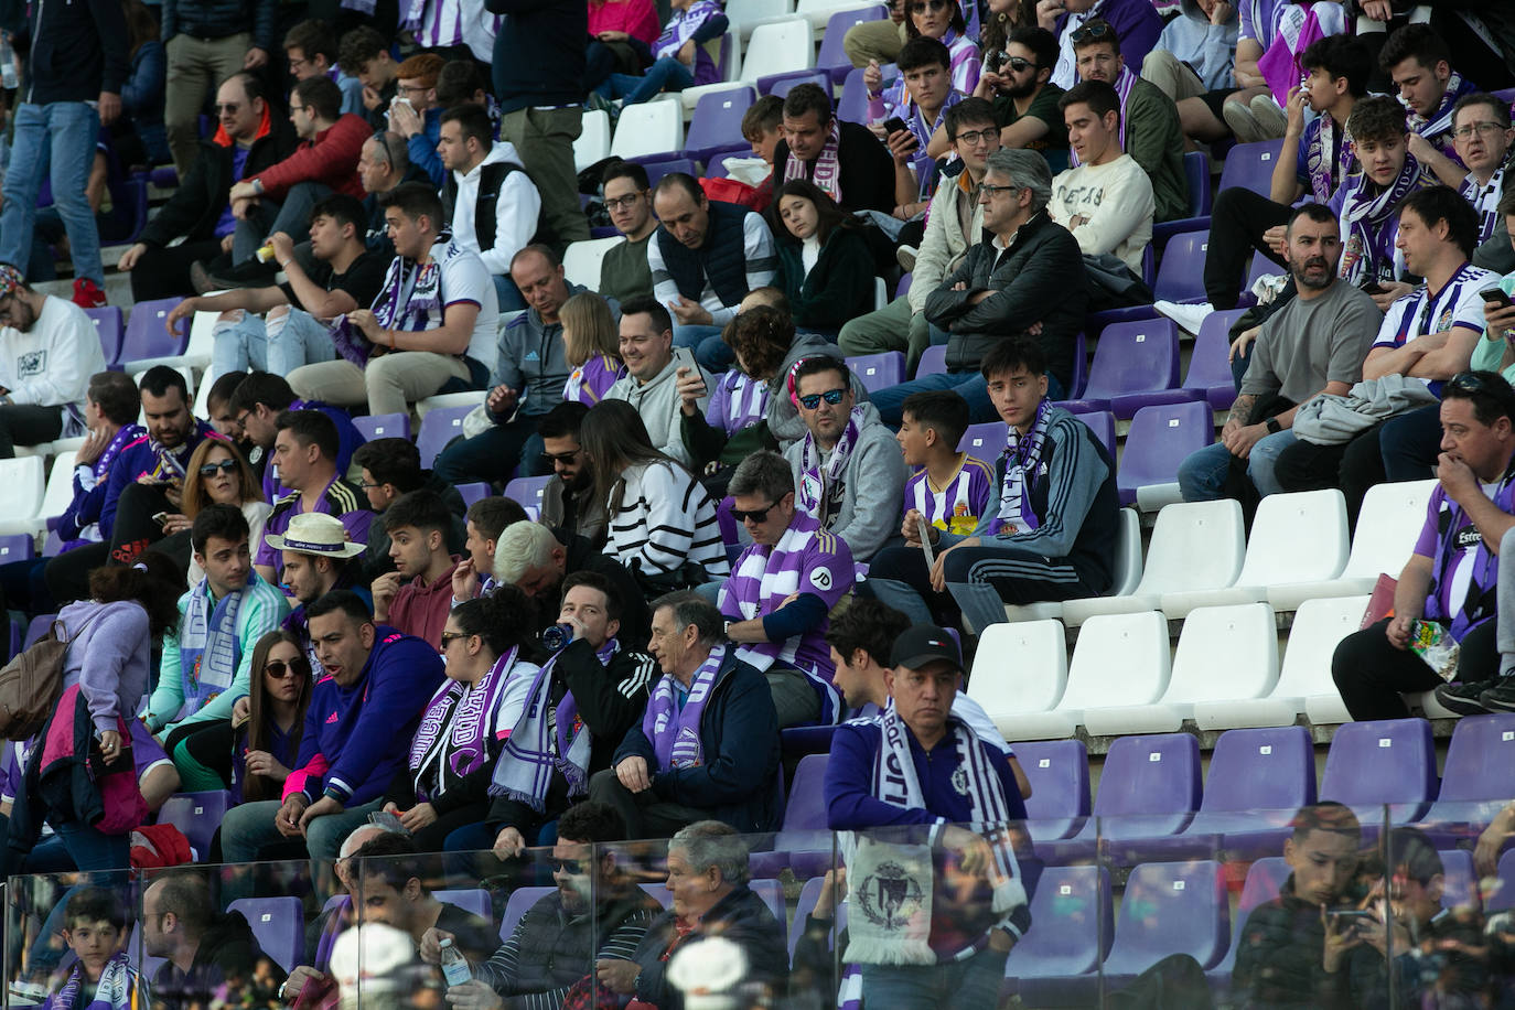
<instances>
[{"instance_id":1,"label":"glass railing running along the bottom of the stand","mask_svg":"<svg viewBox=\"0 0 1515 1010\"><path fill-rule=\"evenodd\" d=\"M709 828L508 859L21 875L8 883L8 998L59 1010L645 1010L682 993L742 1010L1144 995L1498 1007L1515 992L1515 856L1501 874L1480 833L1501 806L997 833Z\"/></svg>"}]
</instances>

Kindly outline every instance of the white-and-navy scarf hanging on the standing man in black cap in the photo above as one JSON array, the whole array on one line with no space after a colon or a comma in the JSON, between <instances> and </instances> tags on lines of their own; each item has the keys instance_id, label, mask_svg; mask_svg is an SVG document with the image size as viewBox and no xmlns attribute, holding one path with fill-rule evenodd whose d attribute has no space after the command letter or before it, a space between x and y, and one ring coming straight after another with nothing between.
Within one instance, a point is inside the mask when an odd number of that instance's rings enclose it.
<instances>
[{"instance_id":1,"label":"white-and-navy scarf hanging on the standing man in black cap","mask_svg":"<svg viewBox=\"0 0 1515 1010\"><path fill-rule=\"evenodd\" d=\"M877 718L883 734L873 766L873 795L901 810L921 810L926 800L915 774L911 730L891 700ZM994 890L992 909L1007 913L1027 901L1020 881L1020 865L1004 828L1011 806L1004 787L989 766L974 731L957 716L948 716L947 733L957 750L953 784L968 798L970 830L988 836L994 862L986 869ZM859 833L845 833L848 943L844 960L862 965L935 965L930 946L932 895L935 871L929 843L880 842ZM954 954L961 960L979 951L970 945Z\"/></svg>"}]
</instances>

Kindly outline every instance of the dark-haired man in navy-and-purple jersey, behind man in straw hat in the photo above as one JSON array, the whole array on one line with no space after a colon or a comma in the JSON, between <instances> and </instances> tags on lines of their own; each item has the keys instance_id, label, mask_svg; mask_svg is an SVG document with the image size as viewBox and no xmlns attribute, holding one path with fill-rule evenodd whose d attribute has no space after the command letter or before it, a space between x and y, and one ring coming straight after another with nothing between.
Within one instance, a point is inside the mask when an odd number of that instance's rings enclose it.
<instances>
[{"instance_id":1,"label":"dark-haired man in navy-and-purple jersey, behind man in straw hat","mask_svg":"<svg viewBox=\"0 0 1515 1010\"><path fill-rule=\"evenodd\" d=\"M289 521L306 512L324 512L342 521L348 538L362 544L374 513L364 506L362 492L336 469L336 426L320 410L283 410L274 419L274 456L279 480L289 494L274 501L274 510L264 525L264 542L253 554L253 563L264 581L279 581L282 557L268 533L289 527Z\"/></svg>"}]
</instances>

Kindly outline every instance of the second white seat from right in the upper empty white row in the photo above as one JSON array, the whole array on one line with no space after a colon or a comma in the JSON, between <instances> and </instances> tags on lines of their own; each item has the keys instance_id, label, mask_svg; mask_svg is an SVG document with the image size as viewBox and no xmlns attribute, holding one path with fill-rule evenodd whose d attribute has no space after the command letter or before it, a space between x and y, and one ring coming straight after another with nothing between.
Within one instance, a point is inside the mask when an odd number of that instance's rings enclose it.
<instances>
[{"instance_id":1,"label":"second white seat from right in the upper empty white row","mask_svg":"<svg viewBox=\"0 0 1515 1010\"><path fill-rule=\"evenodd\" d=\"M1223 607L1268 598L1268 589L1324 581L1347 565L1347 500L1341 491L1268 495L1257 506L1247 560L1224 589L1162 594L1162 612L1182 618L1195 607Z\"/></svg>"}]
</instances>

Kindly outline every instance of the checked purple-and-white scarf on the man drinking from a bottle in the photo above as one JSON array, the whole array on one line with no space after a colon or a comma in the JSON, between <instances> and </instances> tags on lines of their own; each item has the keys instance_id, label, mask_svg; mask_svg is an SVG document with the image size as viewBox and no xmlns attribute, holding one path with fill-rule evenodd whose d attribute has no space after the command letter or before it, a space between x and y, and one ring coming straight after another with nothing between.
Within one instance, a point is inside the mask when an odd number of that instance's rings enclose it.
<instances>
[{"instance_id":1,"label":"checked purple-and-white scarf on the man drinking from a bottle","mask_svg":"<svg viewBox=\"0 0 1515 1010\"><path fill-rule=\"evenodd\" d=\"M601 645L595 653L600 666L608 666L620 648L621 644L615 639ZM504 742L504 754L494 766L494 781L489 783L491 796L518 800L538 813L547 809L547 790L554 771L568 780L570 798L582 796L589 787L589 750L594 740L583 731L573 692L564 692L562 701L556 709L551 707L556 666L558 656L553 656L532 681L526 707Z\"/></svg>"}]
</instances>

